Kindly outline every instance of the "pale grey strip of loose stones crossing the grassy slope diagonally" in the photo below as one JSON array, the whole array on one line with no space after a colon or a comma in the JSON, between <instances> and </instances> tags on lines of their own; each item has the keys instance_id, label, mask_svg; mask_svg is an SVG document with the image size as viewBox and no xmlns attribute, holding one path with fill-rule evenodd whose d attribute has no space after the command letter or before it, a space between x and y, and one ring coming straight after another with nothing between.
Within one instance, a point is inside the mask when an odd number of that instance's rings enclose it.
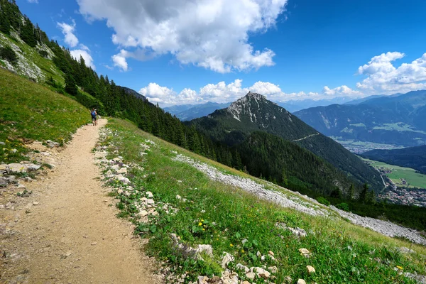
<instances>
[{"instance_id":1,"label":"pale grey strip of loose stones crossing the grassy slope diagonally","mask_svg":"<svg viewBox=\"0 0 426 284\"><path fill-rule=\"evenodd\" d=\"M194 166L203 173L206 173L212 180L217 180L228 185L240 187L242 190L251 192L264 200L269 200L271 202L280 204L283 207L294 208L300 212L305 212L311 215L330 215L331 213L328 210L322 209L318 205L318 202L312 198L303 196L303 199L309 200L309 202L307 202L302 200L302 198L298 198L292 195L285 195L281 192L275 192L273 190L267 190L264 185L258 184L249 178L241 178L235 175L226 175L217 170L217 168L207 165L206 163L197 162L192 158L188 158L184 155L177 155L175 160L179 160ZM283 190L285 189L283 188ZM294 193L297 194L297 192L293 192L293 194ZM300 196L302 197L302 195ZM426 239L423 238L420 233L414 229L408 229L388 221L369 217L361 217L351 212L344 212L334 206L330 206L329 208L339 214L341 217L349 219L349 221L353 224L364 226L386 236L400 236L409 239L416 244L426 245Z\"/></svg>"}]
</instances>

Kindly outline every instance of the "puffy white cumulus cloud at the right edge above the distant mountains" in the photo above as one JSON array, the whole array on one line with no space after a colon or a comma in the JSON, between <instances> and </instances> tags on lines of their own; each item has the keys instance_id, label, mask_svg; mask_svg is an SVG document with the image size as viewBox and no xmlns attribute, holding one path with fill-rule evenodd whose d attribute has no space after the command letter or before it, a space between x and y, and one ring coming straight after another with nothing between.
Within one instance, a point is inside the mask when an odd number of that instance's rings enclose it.
<instances>
[{"instance_id":1,"label":"puffy white cumulus cloud at the right edge above the distant mountains","mask_svg":"<svg viewBox=\"0 0 426 284\"><path fill-rule=\"evenodd\" d=\"M399 67L393 61L404 58L404 53L388 52L371 58L358 68L359 75L366 78L356 84L363 92L370 94L393 94L426 88L426 53L411 63Z\"/></svg>"}]
</instances>

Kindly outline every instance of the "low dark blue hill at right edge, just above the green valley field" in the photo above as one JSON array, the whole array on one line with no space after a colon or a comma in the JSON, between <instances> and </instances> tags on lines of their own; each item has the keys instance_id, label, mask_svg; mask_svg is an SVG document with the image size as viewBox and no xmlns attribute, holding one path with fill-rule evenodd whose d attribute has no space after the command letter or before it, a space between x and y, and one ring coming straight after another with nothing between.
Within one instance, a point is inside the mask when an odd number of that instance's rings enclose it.
<instances>
[{"instance_id":1,"label":"low dark blue hill at right edge, just above the green valley field","mask_svg":"<svg viewBox=\"0 0 426 284\"><path fill-rule=\"evenodd\" d=\"M426 145L395 150L373 150L363 153L362 156L391 165L413 168L426 175Z\"/></svg>"}]
</instances>

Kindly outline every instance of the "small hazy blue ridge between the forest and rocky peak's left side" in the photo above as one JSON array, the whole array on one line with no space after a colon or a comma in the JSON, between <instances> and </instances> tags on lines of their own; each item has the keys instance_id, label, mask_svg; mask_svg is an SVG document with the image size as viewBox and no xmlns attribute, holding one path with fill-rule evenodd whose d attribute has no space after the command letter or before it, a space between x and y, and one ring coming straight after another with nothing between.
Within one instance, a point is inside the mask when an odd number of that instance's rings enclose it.
<instances>
[{"instance_id":1,"label":"small hazy blue ridge between the forest and rocky peak's left side","mask_svg":"<svg viewBox=\"0 0 426 284\"><path fill-rule=\"evenodd\" d=\"M197 119L207 116L217 109L229 107L229 103L217 104L215 102L207 102L205 104L182 104L180 106L165 107L164 110L175 115L181 121Z\"/></svg>"}]
</instances>

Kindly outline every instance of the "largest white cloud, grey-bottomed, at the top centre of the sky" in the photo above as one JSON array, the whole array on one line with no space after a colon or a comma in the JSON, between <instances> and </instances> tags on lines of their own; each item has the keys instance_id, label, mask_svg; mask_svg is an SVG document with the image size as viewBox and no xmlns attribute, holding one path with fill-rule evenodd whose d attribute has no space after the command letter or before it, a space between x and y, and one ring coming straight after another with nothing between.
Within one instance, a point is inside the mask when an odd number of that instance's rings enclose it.
<instances>
[{"instance_id":1,"label":"largest white cloud, grey-bottomed, at the top centre of the sky","mask_svg":"<svg viewBox=\"0 0 426 284\"><path fill-rule=\"evenodd\" d=\"M80 13L90 21L107 19L107 25L114 28L112 41L116 45L153 55L170 53L182 64L225 73L274 64L275 53L267 47L254 50L249 34L263 33L275 26L287 1L77 0L77 3ZM126 66L126 56L114 56L121 62L118 66ZM139 56L135 58L141 60Z\"/></svg>"}]
</instances>

